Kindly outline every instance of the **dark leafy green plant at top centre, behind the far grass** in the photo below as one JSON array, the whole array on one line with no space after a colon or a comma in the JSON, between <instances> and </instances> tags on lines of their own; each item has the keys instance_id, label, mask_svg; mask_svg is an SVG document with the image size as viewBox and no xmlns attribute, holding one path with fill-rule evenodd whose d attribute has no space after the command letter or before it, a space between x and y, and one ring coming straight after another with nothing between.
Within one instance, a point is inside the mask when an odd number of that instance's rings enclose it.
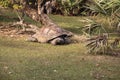
<instances>
[{"instance_id":1,"label":"dark leafy green plant at top centre, behind the far grass","mask_svg":"<svg viewBox=\"0 0 120 80\"><path fill-rule=\"evenodd\" d=\"M65 15L77 15L83 0L58 0L59 8Z\"/></svg>"}]
</instances>

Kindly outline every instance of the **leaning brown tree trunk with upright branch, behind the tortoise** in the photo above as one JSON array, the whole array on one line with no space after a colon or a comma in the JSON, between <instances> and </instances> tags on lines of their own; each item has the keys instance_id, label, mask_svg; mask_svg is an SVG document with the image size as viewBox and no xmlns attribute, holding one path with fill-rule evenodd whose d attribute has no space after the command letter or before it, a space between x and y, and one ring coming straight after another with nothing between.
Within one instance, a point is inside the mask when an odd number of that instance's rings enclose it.
<instances>
[{"instance_id":1,"label":"leaning brown tree trunk with upright branch, behind the tortoise","mask_svg":"<svg viewBox=\"0 0 120 80\"><path fill-rule=\"evenodd\" d=\"M28 6L25 7L24 12L33 20L41 22L43 26L56 26L57 25L44 13L44 6L41 6L43 0L38 0L38 9L32 9Z\"/></svg>"}]
</instances>

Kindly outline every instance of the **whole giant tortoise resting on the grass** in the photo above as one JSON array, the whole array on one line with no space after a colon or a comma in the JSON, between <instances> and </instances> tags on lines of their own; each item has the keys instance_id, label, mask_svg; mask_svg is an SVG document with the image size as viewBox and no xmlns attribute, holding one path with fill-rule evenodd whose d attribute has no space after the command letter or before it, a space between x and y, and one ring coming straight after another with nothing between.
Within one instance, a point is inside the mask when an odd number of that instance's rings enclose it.
<instances>
[{"instance_id":1,"label":"whole giant tortoise resting on the grass","mask_svg":"<svg viewBox=\"0 0 120 80\"><path fill-rule=\"evenodd\" d=\"M61 45L70 43L72 32L62 29L58 26L43 26L29 38L29 41L40 43L51 43L53 45Z\"/></svg>"}]
</instances>

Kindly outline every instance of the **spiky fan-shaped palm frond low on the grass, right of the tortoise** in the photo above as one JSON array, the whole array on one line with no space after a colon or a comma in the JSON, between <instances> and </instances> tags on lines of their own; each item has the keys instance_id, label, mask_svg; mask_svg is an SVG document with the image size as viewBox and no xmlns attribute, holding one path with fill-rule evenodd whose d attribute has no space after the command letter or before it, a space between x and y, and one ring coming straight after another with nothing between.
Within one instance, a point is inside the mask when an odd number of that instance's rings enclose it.
<instances>
[{"instance_id":1,"label":"spiky fan-shaped palm frond low on the grass, right of the tortoise","mask_svg":"<svg viewBox=\"0 0 120 80\"><path fill-rule=\"evenodd\" d=\"M86 45L91 53L106 53L108 49L108 38L106 35L97 36L89 39L89 43Z\"/></svg>"}]
</instances>

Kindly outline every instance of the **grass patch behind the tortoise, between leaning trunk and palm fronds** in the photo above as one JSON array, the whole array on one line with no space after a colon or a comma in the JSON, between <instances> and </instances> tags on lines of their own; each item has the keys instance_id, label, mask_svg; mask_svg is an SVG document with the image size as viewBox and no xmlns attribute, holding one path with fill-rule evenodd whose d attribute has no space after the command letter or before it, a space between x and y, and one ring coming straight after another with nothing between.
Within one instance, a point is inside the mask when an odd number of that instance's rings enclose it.
<instances>
[{"instance_id":1,"label":"grass patch behind the tortoise, between leaning trunk and palm fronds","mask_svg":"<svg viewBox=\"0 0 120 80\"><path fill-rule=\"evenodd\" d=\"M61 15L51 15L50 18L55 21L59 26L74 32L76 34L81 34L81 29L84 24L80 21L83 17L69 17Z\"/></svg>"}]
</instances>

